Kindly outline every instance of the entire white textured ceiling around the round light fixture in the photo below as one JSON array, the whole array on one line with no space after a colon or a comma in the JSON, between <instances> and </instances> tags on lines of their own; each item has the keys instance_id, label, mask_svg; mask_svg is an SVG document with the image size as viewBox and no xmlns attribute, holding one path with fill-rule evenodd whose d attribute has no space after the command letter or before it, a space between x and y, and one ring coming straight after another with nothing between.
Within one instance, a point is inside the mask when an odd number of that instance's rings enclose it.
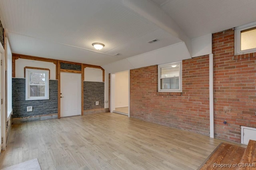
<instances>
[{"instance_id":1,"label":"entire white textured ceiling around the round light fixture","mask_svg":"<svg viewBox=\"0 0 256 170\"><path fill-rule=\"evenodd\" d=\"M255 0L0 0L0 20L12 53L102 66L256 21L254 9Z\"/></svg>"}]
</instances>

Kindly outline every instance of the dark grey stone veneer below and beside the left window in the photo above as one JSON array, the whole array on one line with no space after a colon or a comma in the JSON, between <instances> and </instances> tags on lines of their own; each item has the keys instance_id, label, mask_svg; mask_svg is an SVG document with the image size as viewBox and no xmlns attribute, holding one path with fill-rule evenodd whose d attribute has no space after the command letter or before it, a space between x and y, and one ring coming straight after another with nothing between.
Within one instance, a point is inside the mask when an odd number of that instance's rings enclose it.
<instances>
[{"instance_id":1,"label":"dark grey stone veneer below and beside the left window","mask_svg":"<svg viewBox=\"0 0 256 170\"><path fill-rule=\"evenodd\" d=\"M49 100L25 100L25 78L12 78L12 118L58 113L58 80L49 81ZM27 112L27 106L33 111Z\"/></svg>"}]
</instances>

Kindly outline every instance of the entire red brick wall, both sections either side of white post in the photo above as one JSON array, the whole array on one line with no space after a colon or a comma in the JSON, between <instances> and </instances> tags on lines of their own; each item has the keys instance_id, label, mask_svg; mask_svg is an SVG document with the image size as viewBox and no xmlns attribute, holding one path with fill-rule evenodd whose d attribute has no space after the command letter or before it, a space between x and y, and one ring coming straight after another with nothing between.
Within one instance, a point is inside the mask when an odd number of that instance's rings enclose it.
<instances>
[{"instance_id":1,"label":"entire red brick wall, both sections either side of white post","mask_svg":"<svg viewBox=\"0 0 256 170\"><path fill-rule=\"evenodd\" d=\"M234 55L232 29L212 36L214 136L240 143L241 126L256 128L256 53ZM208 62L182 61L182 96L157 92L157 66L131 70L130 116L209 135Z\"/></svg>"}]
</instances>

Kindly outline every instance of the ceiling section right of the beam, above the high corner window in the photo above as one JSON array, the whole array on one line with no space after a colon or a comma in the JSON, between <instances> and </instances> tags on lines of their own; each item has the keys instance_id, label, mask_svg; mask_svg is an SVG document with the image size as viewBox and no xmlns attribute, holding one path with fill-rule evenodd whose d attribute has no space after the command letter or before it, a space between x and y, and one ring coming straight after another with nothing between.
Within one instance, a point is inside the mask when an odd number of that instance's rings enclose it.
<instances>
[{"instance_id":1,"label":"ceiling section right of the beam, above the high corner window","mask_svg":"<svg viewBox=\"0 0 256 170\"><path fill-rule=\"evenodd\" d=\"M256 21L255 0L152 0L196 38Z\"/></svg>"}]
</instances>

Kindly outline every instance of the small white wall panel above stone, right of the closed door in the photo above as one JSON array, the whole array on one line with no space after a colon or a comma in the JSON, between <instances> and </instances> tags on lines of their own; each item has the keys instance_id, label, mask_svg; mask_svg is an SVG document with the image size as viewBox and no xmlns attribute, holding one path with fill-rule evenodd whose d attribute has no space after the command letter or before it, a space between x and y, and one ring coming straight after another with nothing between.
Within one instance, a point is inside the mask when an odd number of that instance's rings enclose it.
<instances>
[{"instance_id":1,"label":"small white wall panel above stone, right of the closed door","mask_svg":"<svg viewBox=\"0 0 256 170\"><path fill-rule=\"evenodd\" d=\"M87 82L102 82L102 69L86 67L84 69L84 81Z\"/></svg>"}]
</instances>

